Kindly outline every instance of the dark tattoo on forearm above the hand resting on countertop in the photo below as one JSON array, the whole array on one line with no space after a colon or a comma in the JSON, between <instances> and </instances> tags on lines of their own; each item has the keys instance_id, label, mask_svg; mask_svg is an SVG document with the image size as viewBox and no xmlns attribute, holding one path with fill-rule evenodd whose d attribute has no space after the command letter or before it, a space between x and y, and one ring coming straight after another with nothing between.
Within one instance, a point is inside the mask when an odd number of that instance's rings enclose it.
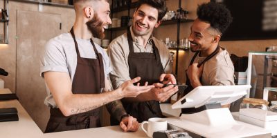
<instances>
[{"instance_id":1,"label":"dark tattoo on forearm above the hand resting on countertop","mask_svg":"<svg viewBox=\"0 0 277 138\"><path fill-rule=\"evenodd\" d=\"M110 103L107 103L106 108L109 111L109 114L118 121L120 121L121 116L127 114L120 100L111 101Z\"/></svg>"}]
</instances>

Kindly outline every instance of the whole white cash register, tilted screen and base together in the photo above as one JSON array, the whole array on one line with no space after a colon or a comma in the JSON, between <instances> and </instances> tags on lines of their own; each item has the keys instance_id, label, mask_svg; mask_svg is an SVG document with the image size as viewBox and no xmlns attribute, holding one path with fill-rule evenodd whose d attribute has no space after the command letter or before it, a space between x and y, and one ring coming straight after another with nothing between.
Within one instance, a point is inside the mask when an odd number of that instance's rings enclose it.
<instances>
[{"instance_id":1,"label":"whole white cash register, tilted screen and base together","mask_svg":"<svg viewBox=\"0 0 277 138\"><path fill-rule=\"evenodd\" d=\"M271 132L258 126L235 121L229 108L232 103L247 95L250 85L199 86L179 99L172 108L200 108L206 110L180 117L166 118L168 124L201 137L271 137ZM211 108L209 108L211 107Z\"/></svg>"}]
</instances>

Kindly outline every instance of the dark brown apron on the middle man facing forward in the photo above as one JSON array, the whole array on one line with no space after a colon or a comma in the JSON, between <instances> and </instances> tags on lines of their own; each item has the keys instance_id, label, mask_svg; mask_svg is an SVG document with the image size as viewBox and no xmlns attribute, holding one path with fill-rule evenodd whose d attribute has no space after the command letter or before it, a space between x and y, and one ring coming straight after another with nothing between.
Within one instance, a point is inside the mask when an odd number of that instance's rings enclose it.
<instances>
[{"instance_id":1,"label":"dark brown apron on the middle man facing forward","mask_svg":"<svg viewBox=\"0 0 277 138\"><path fill-rule=\"evenodd\" d=\"M148 84L159 82L159 77L164 73L161 64L159 50L152 40L153 53L150 52L134 52L133 40L130 30L127 32L127 39L129 43L129 75L131 79L141 77L139 82L141 86L146 81ZM134 84L136 85L136 84ZM147 121L151 117L163 117L159 101L144 101L144 102L124 102L123 106L127 114L136 117L139 122Z\"/></svg>"}]
</instances>

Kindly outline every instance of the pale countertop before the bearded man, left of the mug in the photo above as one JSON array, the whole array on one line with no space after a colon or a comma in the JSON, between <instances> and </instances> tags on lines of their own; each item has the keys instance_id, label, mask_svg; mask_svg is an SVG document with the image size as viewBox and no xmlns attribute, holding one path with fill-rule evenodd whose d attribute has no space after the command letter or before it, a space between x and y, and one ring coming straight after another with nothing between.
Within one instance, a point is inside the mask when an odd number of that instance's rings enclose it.
<instances>
[{"instance_id":1,"label":"pale countertop before the bearded man, left of the mug","mask_svg":"<svg viewBox=\"0 0 277 138\"><path fill-rule=\"evenodd\" d=\"M0 93L11 93L9 89L0 89ZM17 108L19 121L0 122L0 137L4 138L82 138L82 137L147 137L145 132L139 129L137 132L123 132L119 126L109 126L102 128L89 128L83 130L72 130L64 132L43 133L35 121L28 115L19 101L0 101L0 108Z\"/></svg>"}]
</instances>

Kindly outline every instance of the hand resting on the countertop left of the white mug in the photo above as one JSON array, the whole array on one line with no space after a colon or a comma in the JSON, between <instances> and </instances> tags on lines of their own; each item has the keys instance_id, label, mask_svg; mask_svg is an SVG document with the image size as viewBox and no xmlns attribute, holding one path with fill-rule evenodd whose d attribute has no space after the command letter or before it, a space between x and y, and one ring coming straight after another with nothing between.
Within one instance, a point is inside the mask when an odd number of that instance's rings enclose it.
<instances>
[{"instance_id":1,"label":"hand resting on the countertop left of the white mug","mask_svg":"<svg viewBox=\"0 0 277 138\"><path fill-rule=\"evenodd\" d=\"M135 132L139 129L139 122L136 121L136 118L129 116L124 117L119 124L120 128L124 131L132 131Z\"/></svg>"}]
</instances>

